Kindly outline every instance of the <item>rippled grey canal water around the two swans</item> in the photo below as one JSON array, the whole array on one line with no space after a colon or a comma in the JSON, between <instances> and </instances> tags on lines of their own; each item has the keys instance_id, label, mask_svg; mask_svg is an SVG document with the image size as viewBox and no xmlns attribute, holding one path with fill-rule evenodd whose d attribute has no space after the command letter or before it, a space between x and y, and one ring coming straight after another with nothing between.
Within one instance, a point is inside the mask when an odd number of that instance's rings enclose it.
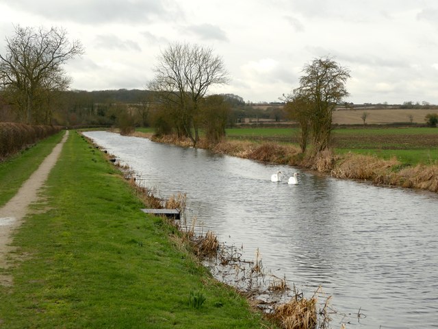
<instances>
[{"instance_id":1,"label":"rippled grey canal water around the two swans","mask_svg":"<svg viewBox=\"0 0 438 329\"><path fill-rule=\"evenodd\" d=\"M331 326L438 328L438 196L313 175L288 166L86 132L159 196L187 193L188 214L257 248L275 276L305 293L322 286ZM281 171L281 182L270 176ZM298 172L299 184L287 184ZM361 316L356 315L360 313Z\"/></svg>"}]
</instances>

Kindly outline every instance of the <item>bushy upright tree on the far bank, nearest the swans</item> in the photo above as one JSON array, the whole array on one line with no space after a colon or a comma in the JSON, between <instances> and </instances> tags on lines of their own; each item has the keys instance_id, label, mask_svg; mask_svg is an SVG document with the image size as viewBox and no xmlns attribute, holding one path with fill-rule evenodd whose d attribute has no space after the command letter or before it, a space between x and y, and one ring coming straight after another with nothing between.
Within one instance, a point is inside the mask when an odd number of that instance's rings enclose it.
<instances>
[{"instance_id":1,"label":"bushy upright tree on the far bank, nearest the swans","mask_svg":"<svg viewBox=\"0 0 438 329\"><path fill-rule=\"evenodd\" d=\"M303 72L294 97L308 103L313 148L320 152L330 146L333 110L348 96L345 84L350 70L326 57L315 58L305 65Z\"/></svg>"}]
</instances>

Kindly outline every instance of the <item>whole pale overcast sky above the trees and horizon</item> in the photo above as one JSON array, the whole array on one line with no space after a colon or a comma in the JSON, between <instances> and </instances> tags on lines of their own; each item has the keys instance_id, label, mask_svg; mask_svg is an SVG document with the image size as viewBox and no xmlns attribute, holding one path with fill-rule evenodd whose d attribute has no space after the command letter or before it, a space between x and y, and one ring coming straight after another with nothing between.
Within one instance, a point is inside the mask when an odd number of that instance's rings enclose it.
<instances>
[{"instance_id":1,"label":"whole pale overcast sky above the trees and horizon","mask_svg":"<svg viewBox=\"0 0 438 329\"><path fill-rule=\"evenodd\" d=\"M210 93L278 101L302 68L333 57L353 103L438 104L437 0L0 0L0 52L21 27L63 27L86 53L71 88L146 88L172 42L214 49L231 83Z\"/></svg>"}]
</instances>

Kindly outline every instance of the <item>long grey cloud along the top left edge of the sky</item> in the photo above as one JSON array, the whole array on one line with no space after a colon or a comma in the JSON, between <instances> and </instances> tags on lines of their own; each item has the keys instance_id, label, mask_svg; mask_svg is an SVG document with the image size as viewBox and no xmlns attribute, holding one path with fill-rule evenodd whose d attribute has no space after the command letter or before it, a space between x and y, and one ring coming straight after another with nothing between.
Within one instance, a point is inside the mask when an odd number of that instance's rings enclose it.
<instances>
[{"instance_id":1,"label":"long grey cloud along the top left edge of the sky","mask_svg":"<svg viewBox=\"0 0 438 329\"><path fill-rule=\"evenodd\" d=\"M1 0L1 2L5 2ZM141 0L79 0L79 1L51 1L51 0L14 0L7 1L12 8L38 14L53 20L68 20L80 23L107 23L130 22L142 23L151 21L155 16L172 14L168 8L177 5L164 5L163 1Z\"/></svg>"}]
</instances>

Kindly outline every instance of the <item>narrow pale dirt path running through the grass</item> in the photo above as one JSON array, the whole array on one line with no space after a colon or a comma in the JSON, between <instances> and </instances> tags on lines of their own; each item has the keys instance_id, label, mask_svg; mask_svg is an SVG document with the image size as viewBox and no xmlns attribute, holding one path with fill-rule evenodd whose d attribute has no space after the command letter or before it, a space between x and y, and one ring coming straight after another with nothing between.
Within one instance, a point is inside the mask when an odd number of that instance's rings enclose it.
<instances>
[{"instance_id":1,"label":"narrow pale dirt path running through the grass","mask_svg":"<svg viewBox=\"0 0 438 329\"><path fill-rule=\"evenodd\" d=\"M25 216L29 215L29 205L38 201L38 190L47 180L49 172L60 156L62 145L64 145L67 137L68 131L62 141L53 147L53 151L44 159L40 167L21 186L18 193L3 208L0 208L0 269L10 266L8 258L10 252L14 250L10 245L12 233L21 225ZM0 273L0 284L12 285L12 277Z\"/></svg>"}]
</instances>

